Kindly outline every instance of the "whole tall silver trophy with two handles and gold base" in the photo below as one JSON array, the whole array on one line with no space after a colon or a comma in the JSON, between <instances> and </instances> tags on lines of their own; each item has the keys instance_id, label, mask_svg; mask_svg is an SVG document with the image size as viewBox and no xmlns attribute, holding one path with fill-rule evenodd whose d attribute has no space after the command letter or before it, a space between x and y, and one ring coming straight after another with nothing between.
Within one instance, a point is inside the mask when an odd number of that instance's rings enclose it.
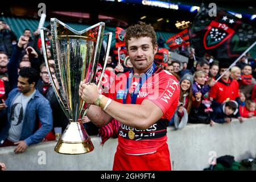
<instances>
[{"instance_id":1,"label":"whole tall silver trophy with two handles and gold base","mask_svg":"<svg viewBox=\"0 0 256 182\"><path fill-rule=\"evenodd\" d=\"M60 154L84 154L93 151L93 144L81 123L81 118L86 114L89 105L79 97L79 85L84 80L85 82L94 82L101 44L106 35L108 44L100 76L100 81L102 80L112 40L112 33L104 34L104 28L105 23L100 22L85 30L76 31L56 18L51 18L51 31L47 28L40 30L49 78L57 100L69 119L69 124L55 147L55 151ZM57 89L49 69L46 52L47 34L52 36L55 74L59 89ZM100 81L98 86L100 86Z\"/></svg>"}]
</instances>

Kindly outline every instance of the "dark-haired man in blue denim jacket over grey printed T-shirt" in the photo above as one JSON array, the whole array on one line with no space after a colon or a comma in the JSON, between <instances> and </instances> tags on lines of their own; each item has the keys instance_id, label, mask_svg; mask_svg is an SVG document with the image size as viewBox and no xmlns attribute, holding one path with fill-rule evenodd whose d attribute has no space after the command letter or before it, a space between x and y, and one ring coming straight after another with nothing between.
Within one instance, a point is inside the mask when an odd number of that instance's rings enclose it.
<instances>
[{"instance_id":1,"label":"dark-haired man in blue denim jacket over grey printed T-shirt","mask_svg":"<svg viewBox=\"0 0 256 182\"><path fill-rule=\"evenodd\" d=\"M33 68L19 72L18 88L11 90L0 116L7 114L0 132L0 147L17 145L14 152L24 152L31 144L41 142L52 129L52 109L49 102L36 90L38 73ZM38 118L42 127L38 130Z\"/></svg>"}]
</instances>

